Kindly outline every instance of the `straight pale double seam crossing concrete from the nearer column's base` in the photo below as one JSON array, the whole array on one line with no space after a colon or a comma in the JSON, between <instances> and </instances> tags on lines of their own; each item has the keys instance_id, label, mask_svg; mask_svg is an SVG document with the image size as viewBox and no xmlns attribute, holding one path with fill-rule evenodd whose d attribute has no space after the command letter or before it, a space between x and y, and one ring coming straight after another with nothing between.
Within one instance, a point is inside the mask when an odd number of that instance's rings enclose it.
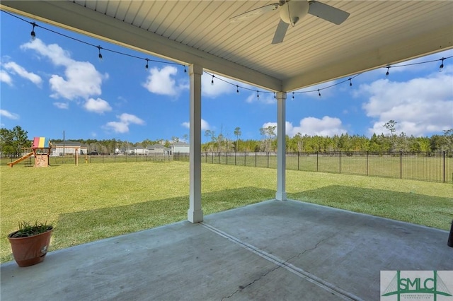
<instances>
[{"instance_id":1,"label":"straight pale double seam crossing concrete from the nearer column's base","mask_svg":"<svg viewBox=\"0 0 453 301\"><path fill-rule=\"evenodd\" d=\"M362 301L360 297L357 297L355 295L352 295L349 292L346 292L345 290L338 288L336 285L333 285L332 283L328 283L327 281L323 281L321 278L318 278L314 276L313 274L304 271L302 268L298 268L297 266L294 266L292 264L289 264L287 260L281 259L280 257L274 256L273 254L269 254L268 252L263 251L262 249L259 249L257 247L254 247L251 244L248 244L246 242L243 242L239 240L239 238L234 237L232 235L229 235L226 232L223 232L222 230L219 230L212 225L208 225L205 222L200 222L200 225L205 227L206 229L214 232L217 235L220 235L227 240L234 242L235 244L238 244L239 246L243 247L244 249L248 250L249 252L252 252L254 254L257 254L258 256L262 257L263 259L272 262L273 264L276 264L278 267L285 268L285 270L294 273L294 275L299 276L300 278L309 281L310 283L313 283L314 285L318 285L320 288L323 290L328 291L329 293L332 293L333 295L336 295L340 297L343 300L357 300L357 301Z\"/></svg>"}]
</instances>

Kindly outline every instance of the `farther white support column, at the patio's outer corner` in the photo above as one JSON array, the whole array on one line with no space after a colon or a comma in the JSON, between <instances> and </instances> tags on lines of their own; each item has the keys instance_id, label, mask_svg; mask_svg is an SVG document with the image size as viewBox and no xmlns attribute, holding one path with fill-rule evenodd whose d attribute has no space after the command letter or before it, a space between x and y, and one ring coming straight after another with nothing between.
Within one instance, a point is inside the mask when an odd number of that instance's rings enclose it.
<instances>
[{"instance_id":1,"label":"farther white support column, at the patio's outer corner","mask_svg":"<svg viewBox=\"0 0 453 301\"><path fill-rule=\"evenodd\" d=\"M277 93L277 201L286 201L286 92Z\"/></svg>"}]
</instances>

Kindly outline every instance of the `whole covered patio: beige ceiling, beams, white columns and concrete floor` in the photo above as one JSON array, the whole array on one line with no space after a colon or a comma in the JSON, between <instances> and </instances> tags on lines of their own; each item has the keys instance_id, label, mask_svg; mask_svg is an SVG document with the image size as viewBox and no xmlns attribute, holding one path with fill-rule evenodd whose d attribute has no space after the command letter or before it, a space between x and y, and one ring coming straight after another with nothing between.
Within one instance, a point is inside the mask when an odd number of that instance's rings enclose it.
<instances>
[{"instance_id":1,"label":"whole covered patio: beige ceiling, beams, white columns and concrete floor","mask_svg":"<svg viewBox=\"0 0 453 301\"><path fill-rule=\"evenodd\" d=\"M271 44L285 1L1 1L190 73L188 222L51 252L30 268L4 264L2 299L377 300L379 271L453 270L445 231L287 200L287 93L453 48L451 1L322 3L350 15L337 25L311 12ZM276 93L274 200L203 215L203 71Z\"/></svg>"}]
</instances>

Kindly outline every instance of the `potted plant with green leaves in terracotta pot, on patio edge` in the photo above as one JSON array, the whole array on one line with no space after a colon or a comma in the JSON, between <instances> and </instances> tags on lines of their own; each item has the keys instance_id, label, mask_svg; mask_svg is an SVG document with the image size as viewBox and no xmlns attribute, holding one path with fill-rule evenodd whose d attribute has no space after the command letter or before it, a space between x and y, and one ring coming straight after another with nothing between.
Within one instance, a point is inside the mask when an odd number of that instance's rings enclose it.
<instances>
[{"instance_id":1,"label":"potted plant with green leaves in terracotta pot, on patio edge","mask_svg":"<svg viewBox=\"0 0 453 301\"><path fill-rule=\"evenodd\" d=\"M18 230L8 235L14 260L18 266L33 266L44 260L49 249L52 225L20 222Z\"/></svg>"}]
</instances>

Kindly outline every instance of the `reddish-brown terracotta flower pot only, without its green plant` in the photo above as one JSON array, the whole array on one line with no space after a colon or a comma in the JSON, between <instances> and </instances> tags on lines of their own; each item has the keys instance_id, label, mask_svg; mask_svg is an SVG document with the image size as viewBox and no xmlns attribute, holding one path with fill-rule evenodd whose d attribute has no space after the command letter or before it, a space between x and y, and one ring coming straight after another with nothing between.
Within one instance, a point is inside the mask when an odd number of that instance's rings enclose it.
<instances>
[{"instance_id":1,"label":"reddish-brown terracotta flower pot only, without its green plant","mask_svg":"<svg viewBox=\"0 0 453 301\"><path fill-rule=\"evenodd\" d=\"M16 260L18 266L33 266L33 264L39 264L44 260L49 249L52 231L53 228L29 237L10 237L14 233L8 235L14 260Z\"/></svg>"}]
</instances>

